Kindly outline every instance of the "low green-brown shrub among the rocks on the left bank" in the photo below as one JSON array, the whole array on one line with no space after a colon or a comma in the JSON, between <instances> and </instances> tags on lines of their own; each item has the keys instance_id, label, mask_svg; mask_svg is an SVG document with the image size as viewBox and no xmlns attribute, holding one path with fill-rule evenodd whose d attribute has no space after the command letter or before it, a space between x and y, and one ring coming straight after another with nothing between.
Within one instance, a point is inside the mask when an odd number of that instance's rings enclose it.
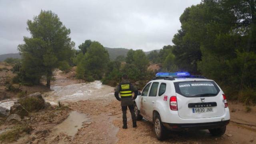
<instances>
[{"instance_id":1,"label":"low green-brown shrub among the rocks on the left bank","mask_svg":"<svg viewBox=\"0 0 256 144\"><path fill-rule=\"evenodd\" d=\"M32 96L20 98L18 102L29 112L38 111L45 106L44 99Z\"/></svg>"}]
</instances>

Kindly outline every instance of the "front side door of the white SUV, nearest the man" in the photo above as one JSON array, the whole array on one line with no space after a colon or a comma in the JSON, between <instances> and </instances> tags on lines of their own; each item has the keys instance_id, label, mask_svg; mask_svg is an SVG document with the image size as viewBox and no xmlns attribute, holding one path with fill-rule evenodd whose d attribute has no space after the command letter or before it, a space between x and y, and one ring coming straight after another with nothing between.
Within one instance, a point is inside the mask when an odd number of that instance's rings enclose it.
<instances>
[{"instance_id":1,"label":"front side door of the white SUV, nearest the man","mask_svg":"<svg viewBox=\"0 0 256 144\"><path fill-rule=\"evenodd\" d=\"M144 89L142 90L142 93L141 93L141 99L140 99L140 114L142 114L143 116L146 115L146 101L147 101L147 97L148 97L148 90L151 86L151 82L148 83Z\"/></svg>"}]
</instances>

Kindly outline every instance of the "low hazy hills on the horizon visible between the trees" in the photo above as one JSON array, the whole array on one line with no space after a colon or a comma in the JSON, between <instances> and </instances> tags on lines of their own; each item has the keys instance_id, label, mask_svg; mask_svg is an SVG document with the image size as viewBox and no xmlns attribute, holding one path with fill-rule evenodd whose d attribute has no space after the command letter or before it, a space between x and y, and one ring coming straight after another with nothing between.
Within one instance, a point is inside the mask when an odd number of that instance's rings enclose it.
<instances>
[{"instance_id":1,"label":"low hazy hills on the horizon visible between the trees","mask_svg":"<svg viewBox=\"0 0 256 144\"><path fill-rule=\"evenodd\" d=\"M107 48L105 47L106 50L108 50L108 54L109 54L109 58L111 60L116 59L116 57L118 56L126 56L127 52L129 51L129 49L127 48ZM145 52L145 54L149 54L150 52L152 52L153 50L149 51L149 52ZM160 50L156 50L157 52L159 52ZM15 54L1 54L0 55L0 62L4 61L6 58L21 58L20 54L15 53Z\"/></svg>"}]
</instances>

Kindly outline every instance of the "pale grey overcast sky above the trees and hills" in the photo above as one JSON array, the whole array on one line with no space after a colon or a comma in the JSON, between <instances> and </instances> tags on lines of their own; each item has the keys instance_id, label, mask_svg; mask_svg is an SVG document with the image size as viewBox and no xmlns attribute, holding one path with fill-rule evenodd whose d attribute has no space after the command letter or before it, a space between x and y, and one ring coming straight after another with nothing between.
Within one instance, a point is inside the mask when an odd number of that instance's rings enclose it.
<instances>
[{"instance_id":1,"label":"pale grey overcast sky above the trees and hills","mask_svg":"<svg viewBox=\"0 0 256 144\"><path fill-rule=\"evenodd\" d=\"M96 40L110 48L150 51L171 44L185 8L201 0L0 0L0 54L16 53L27 20L52 10L70 28L76 48Z\"/></svg>"}]
</instances>

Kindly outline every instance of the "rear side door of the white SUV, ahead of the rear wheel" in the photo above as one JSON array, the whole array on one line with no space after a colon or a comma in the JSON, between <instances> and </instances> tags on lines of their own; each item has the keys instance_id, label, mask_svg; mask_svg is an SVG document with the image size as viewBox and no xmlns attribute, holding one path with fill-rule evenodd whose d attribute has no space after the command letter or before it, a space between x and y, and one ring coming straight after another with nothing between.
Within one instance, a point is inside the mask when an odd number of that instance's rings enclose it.
<instances>
[{"instance_id":1,"label":"rear side door of the white SUV, ahead of the rear wheel","mask_svg":"<svg viewBox=\"0 0 256 144\"><path fill-rule=\"evenodd\" d=\"M153 82L150 87L150 92L148 94L147 100L146 100L146 116L152 120L153 119L153 108L156 105L156 95L158 92L158 86L159 82Z\"/></svg>"}]
</instances>

